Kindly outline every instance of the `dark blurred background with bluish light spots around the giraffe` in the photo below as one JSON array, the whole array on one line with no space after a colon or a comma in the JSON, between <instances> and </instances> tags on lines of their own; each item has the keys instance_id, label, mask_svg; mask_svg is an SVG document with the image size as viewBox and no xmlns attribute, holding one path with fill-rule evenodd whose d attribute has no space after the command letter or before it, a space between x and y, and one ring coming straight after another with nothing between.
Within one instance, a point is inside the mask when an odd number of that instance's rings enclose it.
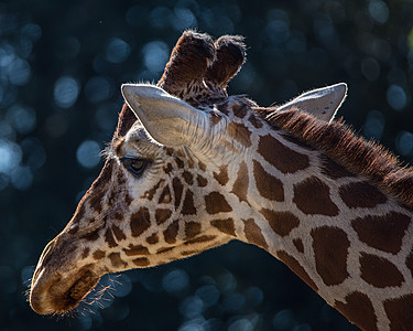
<instances>
[{"instance_id":1,"label":"dark blurred background with bluish light spots around the giraffe","mask_svg":"<svg viewBox=\"0 0 413 331\"><path fill-rule=\"evenodd\" d=\"M244 35L248 62L229 92L261 106L348 83L340 115L412 162L412 25L411 0L1 1L0 329L355 330L241 243L105 277L93 295L102 298L70 317L35 314L24 292L101 168L120 84L156 82L184 29Z\"/></svg>"}]
</instances>

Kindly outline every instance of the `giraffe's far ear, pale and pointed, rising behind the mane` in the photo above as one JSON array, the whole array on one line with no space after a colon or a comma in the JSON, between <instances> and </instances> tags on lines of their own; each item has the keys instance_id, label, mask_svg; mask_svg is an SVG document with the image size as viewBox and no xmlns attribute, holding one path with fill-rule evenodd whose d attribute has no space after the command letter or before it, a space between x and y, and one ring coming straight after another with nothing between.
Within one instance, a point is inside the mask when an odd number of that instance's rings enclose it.
<instances>
[{"instance_id":1,"label":"giraffe's far ear, pale and pointed, rising behind the mane","mask_svg":"<svg viewBox=\"0 0 413 331\"><path fill-rule=\"evenodd\" d=\"M297 107L316 118L330 121L347 96L347 84L308 90L278 108L278 111Z\"/></svg>"}]
</instances>

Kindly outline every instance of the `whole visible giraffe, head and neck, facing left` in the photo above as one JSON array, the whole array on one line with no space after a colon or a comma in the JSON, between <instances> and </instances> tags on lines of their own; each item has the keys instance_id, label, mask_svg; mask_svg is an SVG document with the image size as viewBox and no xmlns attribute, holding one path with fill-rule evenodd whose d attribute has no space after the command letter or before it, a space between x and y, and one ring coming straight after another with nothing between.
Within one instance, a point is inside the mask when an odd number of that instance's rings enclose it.
<instances>
[{"instance_id":1,"label":"whole visible giraffe, head and neck, facing left","mask_svg":"<svg viewBox=\"0 0 413 331\"><path fill-rule=\"evenodd\" d=\"M239 239L360 329L413 329L412 168L333 120L345 84L281 107L228 96L244 58L240 36L185 31L156 85L122 86L105 166L33 274L37 313Z\"/></svg>"}]
</instances>

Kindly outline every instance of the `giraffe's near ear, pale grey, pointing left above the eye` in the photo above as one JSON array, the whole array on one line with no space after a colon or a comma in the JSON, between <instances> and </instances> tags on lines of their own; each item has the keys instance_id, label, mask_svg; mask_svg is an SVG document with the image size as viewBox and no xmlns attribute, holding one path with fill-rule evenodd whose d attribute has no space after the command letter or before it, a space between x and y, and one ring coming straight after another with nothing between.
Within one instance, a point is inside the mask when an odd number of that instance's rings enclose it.
<instances>
[{"instance_id":1,"label":"giraffe's near ear, pale grey, pointing left above the eye","mask_svg":"<svg viewBox=\"0 0 413 331\"><path fill-rule=\"evenodd\" d=\"M122 95L151 137L169 147L192 146L208 130L208 115L161 87L123 84Z\"/></svg>"}]
</instances>

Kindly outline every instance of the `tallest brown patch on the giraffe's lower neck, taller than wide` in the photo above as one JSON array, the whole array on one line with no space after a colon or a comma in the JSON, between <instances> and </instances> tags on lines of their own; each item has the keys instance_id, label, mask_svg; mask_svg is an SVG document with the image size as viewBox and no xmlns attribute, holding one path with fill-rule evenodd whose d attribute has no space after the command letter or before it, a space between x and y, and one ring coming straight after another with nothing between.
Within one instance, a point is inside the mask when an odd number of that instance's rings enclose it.
<instances>
[{"instance_id":1,"label":"tallest brown patch on the giraffe's lower neck, taller than wide","mask_svg":"<svg viewBox=\"0 0 413 331\"><path fill-rule=\"evenodd\" d=\"M338 227L323 226L311 231L315 265L318 275L327 286L339 285L349 276L347 255L350 242Z\"/></svg>"}]
</instances>

